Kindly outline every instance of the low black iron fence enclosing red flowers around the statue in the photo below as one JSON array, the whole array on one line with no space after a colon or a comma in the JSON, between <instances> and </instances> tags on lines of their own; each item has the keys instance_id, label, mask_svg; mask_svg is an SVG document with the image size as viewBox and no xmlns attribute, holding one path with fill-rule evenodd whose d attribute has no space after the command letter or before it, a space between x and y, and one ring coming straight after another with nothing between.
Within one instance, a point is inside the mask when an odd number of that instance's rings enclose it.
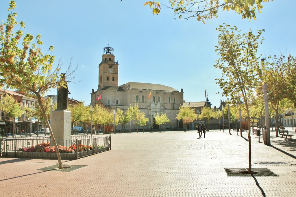
<instances>
[{"instance_id":1,"label":"low black iron fence enclosing red flowers around the statue","mask_svg":"<svg viewBox=\"0 0 296 197\"><path fill-rule=\"evenodd\" d=\"M30 157L56 159L57 153L50 136L1 138L0 157ZM111 150L111 136L71 136L56 140L62 159L78 159Z\"/></svg>"}]
</instances>

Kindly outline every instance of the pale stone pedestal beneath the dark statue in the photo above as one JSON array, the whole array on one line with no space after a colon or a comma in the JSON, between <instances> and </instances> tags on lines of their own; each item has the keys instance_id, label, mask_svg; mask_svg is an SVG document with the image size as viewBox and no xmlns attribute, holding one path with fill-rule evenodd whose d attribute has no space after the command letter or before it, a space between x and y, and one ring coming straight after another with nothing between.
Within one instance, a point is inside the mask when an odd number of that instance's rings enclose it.
<instances>
[{"instance_id":1,"label":"pale stone pedestal beneath the dark statue","mask_svg":"<svg viewBox=\"0 0 296 197\"><path fill-rule=\"evenodd\" d=\"M52 111L52 133L57 145L69 147L71 144L71 112L67 110ZM51 142L52 146L52 142Z\"/></svg>"}]
</instances>

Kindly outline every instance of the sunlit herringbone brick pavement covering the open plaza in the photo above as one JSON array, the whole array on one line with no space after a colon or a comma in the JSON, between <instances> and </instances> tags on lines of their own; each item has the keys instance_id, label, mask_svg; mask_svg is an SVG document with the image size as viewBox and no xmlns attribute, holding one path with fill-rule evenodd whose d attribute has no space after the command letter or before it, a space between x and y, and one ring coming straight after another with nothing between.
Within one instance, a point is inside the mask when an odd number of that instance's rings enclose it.
<instances>
[{"instance_id":1,"label":"sunlit herringbone brick pavement covering the open plaza","mask_svg":"<svg viewBox=\"0 0 296 197\"><path fill-rule=\"evenodd\" d=\"M10 196L296 196L295 139L274 137L272 146L251 133L252 167L277 177L228 177L224 168L248 168L249 146L236 131L111 134L112 150L64 165L72 172L39 171L56 160L0 158L0 195ZM287 162L262 165L258 162Z\"/></svg>"}]
</instances>

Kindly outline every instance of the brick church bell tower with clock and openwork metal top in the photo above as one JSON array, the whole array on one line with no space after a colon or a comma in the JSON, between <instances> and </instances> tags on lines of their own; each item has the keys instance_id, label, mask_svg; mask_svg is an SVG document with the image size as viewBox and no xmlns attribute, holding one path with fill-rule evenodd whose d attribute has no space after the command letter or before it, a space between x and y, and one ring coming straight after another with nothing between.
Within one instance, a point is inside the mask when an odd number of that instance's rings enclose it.
<instances>
[{"instance_id":1,"label":"brick church bell tower with clock and openwork metal top","mask_svg":"<svg viewBox=\"0 0 296 197\"><path fill-rule=\"evenodd\" d=\"M107 86L118 87L118 61L115 62L114 49L108 44L104 48L102 61L99 63L99 86L102 89Z\"/></svg>"}]
</instances>

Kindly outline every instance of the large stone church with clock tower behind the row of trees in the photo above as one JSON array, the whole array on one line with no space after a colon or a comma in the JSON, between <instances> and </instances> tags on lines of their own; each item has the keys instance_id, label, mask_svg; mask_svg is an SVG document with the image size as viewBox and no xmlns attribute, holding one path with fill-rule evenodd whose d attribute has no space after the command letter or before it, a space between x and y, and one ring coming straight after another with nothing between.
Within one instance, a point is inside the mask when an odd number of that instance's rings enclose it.
<instances>
[{"instance_id":1,"label":"large stone church with clock tower behind the row of trees","mask_svg":"<svg viewBox=\"0 0 296 197\"><path fill-rule=\"evenodd\" d=\"M118 85L119 64L115 61L113 50L110 45L104 48L102 61L99 63L99 85L96 91L91 90L91 105L95 106L101 102L105 107L119 108L125 113L130 105L138 103L140 112L144 112L145 117L149 119L145 129L151 129L151 120L155 120L154 117L162 113L170 119L170 122L165 125L167 129L183 128L182 123L176 119L179 107L184 102L183 89L179 92L165 85L140 82ZM129 129L130 124L125 127ZM131 128L134 127L135 125L131 123ZM159 127L154 124L153 128Z\"/></svg>"}]
</instances>

